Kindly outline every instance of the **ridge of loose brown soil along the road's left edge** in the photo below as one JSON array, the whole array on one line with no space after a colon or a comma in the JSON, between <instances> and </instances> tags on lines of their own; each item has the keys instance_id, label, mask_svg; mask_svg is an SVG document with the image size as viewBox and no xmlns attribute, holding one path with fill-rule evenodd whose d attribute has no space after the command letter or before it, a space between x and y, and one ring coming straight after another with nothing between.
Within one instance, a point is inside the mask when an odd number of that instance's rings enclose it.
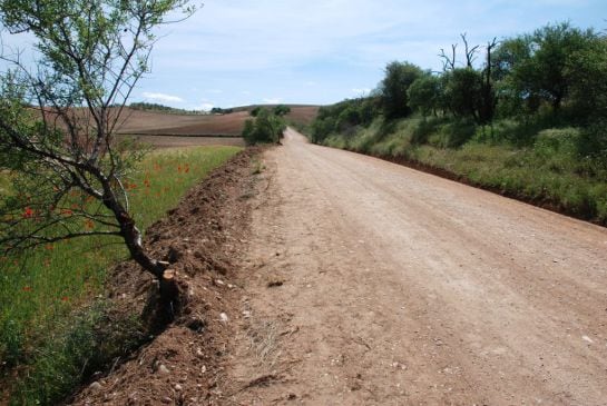
<instances>
[{"instance_id":1,"label":"ridge of loose brown soil along the road's left edge","mask_svg":"<svg viewBox=\"0 0 607 406\"><path fill-rule=\"evenodd\" d=\"M215 170L147 231L147 245L172 263L184 291L176 319L71 404L213 405L222 397L222 363L242 295L234 258L248 237L256 154L246 150ZM154 289L147 274L130 263L111 277L110 296L124 308L144 311Z\"/></svg>"}]
</instances>

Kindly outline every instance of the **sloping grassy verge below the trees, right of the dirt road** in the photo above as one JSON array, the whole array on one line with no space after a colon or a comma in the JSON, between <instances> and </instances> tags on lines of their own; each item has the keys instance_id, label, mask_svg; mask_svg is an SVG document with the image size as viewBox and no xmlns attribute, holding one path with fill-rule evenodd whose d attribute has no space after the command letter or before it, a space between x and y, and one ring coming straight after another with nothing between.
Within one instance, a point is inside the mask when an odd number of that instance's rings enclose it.
<instances>
[{"instance_id":1,"label":"sloping grassy verge below the trees, right of the dirt road","mask_svg":"<svg viewBox=\"0 0 607 406\"><path fill-rule=\"evenodd\" d=\"M353 133L330 136L324 145L411 164L607 225L607 164L580 154L579 129L537 129L521 142L520 128L496 127L491 133L444 119L375 120Z\"/></svg>"}]
</instances>

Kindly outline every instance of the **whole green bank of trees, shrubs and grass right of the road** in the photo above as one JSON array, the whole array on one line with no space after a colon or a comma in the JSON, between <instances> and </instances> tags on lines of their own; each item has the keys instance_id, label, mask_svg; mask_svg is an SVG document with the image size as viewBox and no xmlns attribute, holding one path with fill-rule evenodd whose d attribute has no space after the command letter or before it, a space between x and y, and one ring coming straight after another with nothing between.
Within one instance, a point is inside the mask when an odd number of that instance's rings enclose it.
<instances>
[{"instance_id":1,"label":"whole green bank of trees, shrubs and grass right of the road","mask_svg":"<svg viewBox=\"0 0 607 406\"><path fill-rule=\"evenodd\" d=\"M321 108L311 140L607 225L607 38L547 26L488 42L481 67L462 40L442 73L392 62L370 97Z\"/></svg>"}]
</instances>

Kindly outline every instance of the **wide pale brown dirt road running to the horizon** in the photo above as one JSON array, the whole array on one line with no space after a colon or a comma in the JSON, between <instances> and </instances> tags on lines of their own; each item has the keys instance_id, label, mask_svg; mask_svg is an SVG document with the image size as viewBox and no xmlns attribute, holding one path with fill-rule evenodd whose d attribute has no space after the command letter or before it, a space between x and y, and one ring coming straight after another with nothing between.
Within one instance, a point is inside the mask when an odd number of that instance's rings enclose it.
<instances>
[{"instance_id":1,"label":"wide pale brown dirt road running to the horizon","mask_svg":"<svg viewBox=\"0 0 607 406\"><path fill-rule=\"evenodd\" d=\"M607 405L607 230L288 130L229 350L243 405Z\"/></svg>"}]
</instances>

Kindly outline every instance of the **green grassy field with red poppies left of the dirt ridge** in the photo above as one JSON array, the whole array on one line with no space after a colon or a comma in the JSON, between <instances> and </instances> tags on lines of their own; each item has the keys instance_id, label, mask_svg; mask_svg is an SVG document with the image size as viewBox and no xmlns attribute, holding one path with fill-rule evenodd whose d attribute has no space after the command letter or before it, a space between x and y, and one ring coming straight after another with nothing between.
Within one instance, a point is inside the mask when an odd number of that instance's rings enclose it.
<instances>
[{"instance_id":1,"label":"green grassy field with red poppies left of the dirt ridge","mask_svg":"<svg viewBox=\"0 0 607 406\"><path fill-rule=\"evenodd\" d=\"M145 229L161 218L239 150L215 146L149 154L126 180L137 224ZM6 198L7 176L0 188ZM99 336L110 310L101 299L106 271L127 257L120 240L86 238L0 258L0 387L12 392L13 404L55 404L82 376L137 344L138 315L120 328L106 326L109 338Z\"/></svg>"}]
</instances>

